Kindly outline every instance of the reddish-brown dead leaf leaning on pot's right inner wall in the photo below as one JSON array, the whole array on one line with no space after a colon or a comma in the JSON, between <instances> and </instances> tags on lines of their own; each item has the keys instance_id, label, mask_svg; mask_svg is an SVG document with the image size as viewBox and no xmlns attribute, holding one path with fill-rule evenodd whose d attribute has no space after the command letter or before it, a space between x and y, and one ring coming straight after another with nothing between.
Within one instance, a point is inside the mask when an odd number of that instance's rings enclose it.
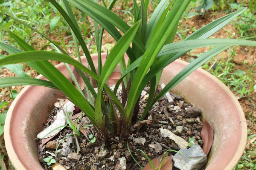
<instances>
[{"instance_id":1,"label":"reddish-brown dead leaf leaning on pot's right inner wall","mask_svg":"<svg viewBox=\"0 0 256 170\"><path fill-rule=\"evenodd\" d=\"M214 134L213 134L212 126L207 121L204 122L204 125L201 130L201 136L202 136L202 140L204 141L204 145L203 145L204 153L208 155L212 147Z\"/></svg>"}]
</instances>

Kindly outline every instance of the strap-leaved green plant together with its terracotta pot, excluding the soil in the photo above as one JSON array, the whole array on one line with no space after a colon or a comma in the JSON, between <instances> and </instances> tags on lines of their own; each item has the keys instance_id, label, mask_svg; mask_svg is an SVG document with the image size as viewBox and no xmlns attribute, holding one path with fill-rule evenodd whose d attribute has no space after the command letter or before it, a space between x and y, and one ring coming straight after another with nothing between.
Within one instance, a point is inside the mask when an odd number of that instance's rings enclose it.
<instances>
[{"instance_id":1,"label":"strap-leaved green plant together with its terracotta pot, excluding the soil","mask_svg":"<svg viewBox=\"0 0 256 170\"><path fill-rule=\"evenodd\" d=\"M172 1L171 3L169 3L169 0L162 0L154 10L148 22L147 8L149 0L141 1L140 6L134 1L134 26L132 27L128 26L127 23L111 11L116 0L112 0L108 6L106 6L105 3L101 6L90 0L62 0L62 6L55 0L49 1L61 13L72 31L78 61L70 57L66 51L59 47L54 41L50 40L46 35L9 15L7 16L32 28L34 31L38 32L38 34L47 38L47 40L52 43L55 52L36 51L31 45L27 44L10 31L9 35L23 50L0 42L0 48L11 54L2 57L0 59L0 65L24 62L42 75L38 77L39 79L29 77L0 78L0 87L12 85L39 85L36 88L34 86L27 86L13 102L6 118L6 147L10 159L17 169L40 169L34 138L38 132L38 128L42 128L40 122L45 120L45 114L49 113L47 112L48 108L52 107L52 103L56 99L56 96L53 95L54 91L62 91L63 94L67 96L67 99L77 105L92 122L94 130L97 132L99 142L108 145L109 133L122 136L121 140L128 138L130 127L134 123L133 118L137 117L140 94L148 82L150 82L148 102L139 121L147 117L149 109L161 96L180 83L176 90L186 95L186 98L193 104L203 108L203 118L211 122L215 129L215 134L217 134L215 135L213 144L215 147L208 161L209 169L212 169L216 165L216 162L219 163L220 160L223 161L222 159L225 157L224 155L218 155L218 157L216 154L223 153L223 151L226 153L230 152L231 145L226 143L230 139L221 136L223 134L230 137L231 134L232 136L238 134L238 140L236 142L232 141L235 143L236 150L232 151L233 154L228 161L224 161L224 164L221 165L221 169L232 169L236 165L244 150L246 140L245 119L238 101L234 99L233 94L227 87L224 87L218 80L205 74L202 70L196 71L199 73L198 75L194 75L192 78L190 76L190 78L188 77L184 81L182 80L204 62L229 48L231 45L256 46L256 42L250 40L207 39L241 14L244 9L209 23L181 42L172 43L180 17L190 0ZM76 6L94 20L98 51L97 57L90 55L70 5ZM100 30L98 25L101 26ZM104 30L108 31L116 40L116 45L108 54L108 57L101 54L102 34ZM118 30L122 31L123 35ZM130 46L131 42L132 45ZM79 55L78 44L81 45L86 57L83 61ZM190 49L206 46L215 47L202 54L201 57L198 57L189 65L186 66L186 64L179 61L175 62L177 58ZM127 63L125 63L125 53L128 56ZM57 66L57 68L55 68L48 59L64 62L65 67ZM94 59L96 59L96 62L93 62L95 61ZM169 65L170 63L171 65ZM120 65L119 69L116 68L118 64ZM126 64L128 64L128 66ZM86 93L80 88L79 81L77 80L79 77L73 75L73 66L70 65L73 65L81 76ZM169 71L171 67L175 70ZM164 68L167 68L165 69L166 71L163 71ZM116 69L121 72L121 77L116 82L114 91L111 91L106 81ZM71 76L67 76L68 74L71 74ZM195 74L195 72L193 74ZM97 93L87 77L90 77L96 82L98 88ZM210 78L201 79L201 77ZM70 82L71 79L75 82L75 85ZM158 83L163 81L162 79L165 79L166 87L156 96ZM200 82L201 84L197 84L196 82ZM204 84L202 84L203 82ZM121 83L123 91L122 103L119 102L116 97L116 90ZM195 84L192 85L190 83ZM214 84L218 84L218 87L212 88L209 86ZM204 90L201 90L201 88ZM213 94L218 95L217 99L216 95L211 96L212 93L210 93L210 89L212 89ZM29 91L31 93L29 93ZM199 91L208 91L210 95L203 94L204 96L197 96L196 99L194 99L195 96L193 98L189 95L195 95L195 93L199 93ZM218 93L216 91L218 91ZM90 97L89 94L92 94L92 97ZM104 94L111 96L108 98L108 101L104 100ZM206 99L206 97L208 97L208 99ZM210 103L209 99L219 99L216 102L220 102L221 107L214 109L215 104L205 107L201 102L202 100L199 100L200 98L204 99L203 101L207 101L207 103ZM223 104L223 101L226 100L229 100L229 104ZM35 103L35 105L33 103ZM227 107L228 111L220 110L224 107ZM116 108L120 116L115 113L114 110ZM231 114L230 111L235 115L233 116L234 121L227 119ZM223 113L229 114L223 115ZM232 127L225 127L226 125L223 124L223 121L217 123L216 116L220 116L221 120L229 120L229 123L234 122L234 124L232 124ZM237 124L237 122L239 123ZM225 128L232 128L232 131L225 132ZM222 147L223 144L228 151L224 150L224 147ZM18 151L19 148L22 151ZM24 150L30 150L30 152L27 153L24 152Z\"/></svg>"}]
</instances>

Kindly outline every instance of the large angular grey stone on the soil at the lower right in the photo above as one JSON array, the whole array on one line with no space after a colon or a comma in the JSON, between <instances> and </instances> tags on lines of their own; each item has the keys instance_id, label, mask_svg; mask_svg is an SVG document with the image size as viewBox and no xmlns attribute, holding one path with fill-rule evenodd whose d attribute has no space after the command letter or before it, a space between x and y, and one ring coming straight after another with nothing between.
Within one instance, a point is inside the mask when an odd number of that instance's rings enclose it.
<instances>
[{"instance_id":1,"label":"large angular grey stone on the soil at the lower right","mask_svg":"<svg viewBox=\"0 0 256 170\"><path fill-rule=\"evenodd\" d=\"M191 158L187 159L179 153L173 156L174 166L180 170L200 170L207 163L207 156L198 144L194 144L189 149L183 148L179 152Z\"/></svg>"}]
</instances>

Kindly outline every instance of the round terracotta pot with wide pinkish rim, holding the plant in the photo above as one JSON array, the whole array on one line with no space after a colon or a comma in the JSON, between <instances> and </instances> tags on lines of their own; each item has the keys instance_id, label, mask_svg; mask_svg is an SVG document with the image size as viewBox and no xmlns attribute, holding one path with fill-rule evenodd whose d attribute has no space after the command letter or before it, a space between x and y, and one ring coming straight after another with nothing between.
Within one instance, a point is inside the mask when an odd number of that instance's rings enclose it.
<instances>
[{"instance_id":1,"label":"round terracotta pot with wide pinkish rim, holding the plant","mask_svg":"<svg viewBox=\"0 0 256 170\"><path fill-rule=\"evenodd\" d=\"M93 55L96 59L96 55ZM105 58L105 54L102 54ZM86 61L84 59L84 61ZM104 62L104 61L103 61ZM96 62L95 62L96 63ZM169 82L188 63L176 60L167 66L160 82ZM68 75L63 64L56 66ZM119 71L119 68L116 68ZM43 79L40 75L38 78ZM232 92L208 72L197 69L174 89L203 112L203 119L214 128L214 142L207 170L233 170L245 147L247 125L244 113ZM60 98L60 91L26 86L9 108L5 122L6 149L17 170L43 170L38 161L36 135L43 128L47 115Z\"/></svg>"}]
</instances>

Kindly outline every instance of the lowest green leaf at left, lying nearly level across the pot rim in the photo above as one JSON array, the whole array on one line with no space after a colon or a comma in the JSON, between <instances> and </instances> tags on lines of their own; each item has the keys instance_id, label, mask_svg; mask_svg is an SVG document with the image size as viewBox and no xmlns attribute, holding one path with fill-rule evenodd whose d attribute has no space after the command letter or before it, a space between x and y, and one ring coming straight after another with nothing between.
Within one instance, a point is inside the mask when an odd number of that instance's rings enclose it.
<instances>
[{"instance_id":1,"label":"lowest green leaf at left, lying nearly level across the pot rim","mask_svg":"<svg viewBox=\"0 0 256 170\"><path fill-rule=\"evenodd\" d=\"M13 85L41 85L49 88L58 89L52 82L42 79L29 77L3 77L0 78L0 88Z\"/></svg>"}]
</instances>

